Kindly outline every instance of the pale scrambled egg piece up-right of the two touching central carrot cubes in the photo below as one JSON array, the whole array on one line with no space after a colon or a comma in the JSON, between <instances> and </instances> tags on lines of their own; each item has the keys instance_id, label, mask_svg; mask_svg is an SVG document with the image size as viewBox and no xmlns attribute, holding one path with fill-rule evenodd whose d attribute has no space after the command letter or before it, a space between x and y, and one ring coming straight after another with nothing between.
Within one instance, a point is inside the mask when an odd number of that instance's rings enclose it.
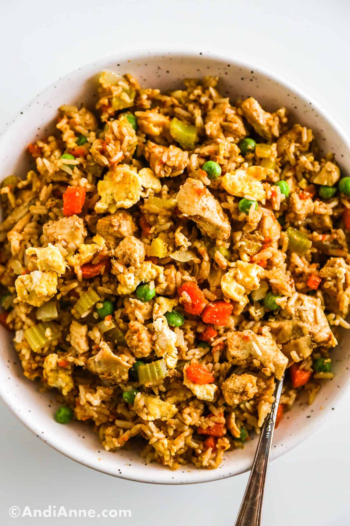
<instances>
[{"instance_id":1,"label":"pale scrambled egg piece up-right of the two touching central carrot cubes","mask_svg":"<svg viewBox=\"0 0 350 526\"><path fill-rule=\"evenodd\" d=\"M260 278L264 276L264 269L255 263L246 263L240 259L221 278L221 290L227 298L247 305L247 294L257 290Z\"/></svg>"}]
</instances>

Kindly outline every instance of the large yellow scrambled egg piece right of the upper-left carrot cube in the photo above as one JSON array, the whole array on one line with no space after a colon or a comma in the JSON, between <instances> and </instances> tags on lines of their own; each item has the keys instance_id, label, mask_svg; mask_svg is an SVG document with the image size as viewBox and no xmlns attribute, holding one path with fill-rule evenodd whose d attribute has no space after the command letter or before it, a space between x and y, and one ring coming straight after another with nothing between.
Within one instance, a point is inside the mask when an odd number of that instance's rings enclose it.
<instances>
[{"instance_id":1,"label":"large yellow scrambled egg piece right of the upper-left carrot cube","mask_svg":"<svg viewBox=\"0 0 350 526\"><path fill-rule=\"evenodd\" d=\"M97 184L100 201L95 205L97 214L109 211L114 214L117 208L130 208L140 199L142 179L129 165L118 165L105 174Z\"/></svg>"}]
</instances>

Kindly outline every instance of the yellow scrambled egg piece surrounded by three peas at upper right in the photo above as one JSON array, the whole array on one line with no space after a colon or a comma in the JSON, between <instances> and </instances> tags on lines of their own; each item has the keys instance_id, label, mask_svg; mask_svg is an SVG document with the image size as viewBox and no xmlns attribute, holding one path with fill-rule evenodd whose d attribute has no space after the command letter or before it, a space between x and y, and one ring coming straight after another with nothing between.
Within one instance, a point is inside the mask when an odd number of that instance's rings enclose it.
<instances>
[{"instance_id":1,"label":"yellow scrambled egg piece surrounded by three peas at upper right","mask_svg":"<svg viewBox=\"0 0 350 526\"><path fill-rule=\"evenodd\" d=\"M266 168L250 166L247 171L239 168L234 174L221 177L222 187L232 196L251 196L257 201L266 197L266 192L260 181L266 178Z\"/></svg>"}]
</instances>

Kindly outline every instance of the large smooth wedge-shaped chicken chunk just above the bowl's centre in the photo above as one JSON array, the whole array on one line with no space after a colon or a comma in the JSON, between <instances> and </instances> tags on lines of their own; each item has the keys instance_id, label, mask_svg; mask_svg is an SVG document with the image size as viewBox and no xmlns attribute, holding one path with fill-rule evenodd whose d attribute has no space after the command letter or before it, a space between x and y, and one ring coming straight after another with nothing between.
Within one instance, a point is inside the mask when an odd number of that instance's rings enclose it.
<instances>
[{"instance_id":1,"label":"large smooth wedge-shaped chicken chunk just above the bowl's centre","mask_svg":"<svg viewBox=\"0 0 350 526\"><path fill-rule=\"evenodd\" d=\"M199 229L214 239L227 239L231 234L228 217L219 201L201 181L188 178L176 196L177 206Z\"/></svg>"}]
</instances>

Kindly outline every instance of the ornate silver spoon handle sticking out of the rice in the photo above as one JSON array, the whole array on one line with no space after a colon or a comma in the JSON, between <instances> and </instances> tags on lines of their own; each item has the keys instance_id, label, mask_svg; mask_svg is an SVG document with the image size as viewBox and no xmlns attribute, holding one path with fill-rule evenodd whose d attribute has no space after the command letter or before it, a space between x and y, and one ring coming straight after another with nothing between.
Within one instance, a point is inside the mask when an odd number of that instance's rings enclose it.
<instances>
[{"instance_id":1,"label":"ornate silver spoon handle sticking out of the rice","mask_svg":"<svg viewBox=\"0 0 350 526\"><path fill-rule=\"evenodd\" d=\"M247 488L243 496L235 526L260 526L266 476L270 460L270 451L274 425L277 416L278 404L280 402L283 377L277 380L274 392L275 401L272 404L271 412L264 422L257 451L255 453L253 466L248 480Z\"/></svg>"}]
</instances>

